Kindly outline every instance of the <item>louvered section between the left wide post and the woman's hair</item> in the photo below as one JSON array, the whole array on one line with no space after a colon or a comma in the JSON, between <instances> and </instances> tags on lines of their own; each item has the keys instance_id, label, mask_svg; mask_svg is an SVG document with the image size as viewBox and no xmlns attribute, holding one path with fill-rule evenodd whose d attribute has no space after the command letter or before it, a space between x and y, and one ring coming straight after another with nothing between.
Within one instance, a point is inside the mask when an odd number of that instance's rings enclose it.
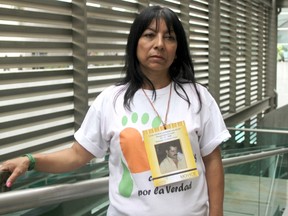
<instances>
[{"instance_id":1,"label":"louvered section between the left wide post and the woman's hair","mask_svg":"<svg viewBox=\"0 0 288 216\"><path fill-rule=\"evenodd\" d=\"M138 13L137 3L87 2L89 101L121 78L126 41Z\"/></svg>"}]
</instances>

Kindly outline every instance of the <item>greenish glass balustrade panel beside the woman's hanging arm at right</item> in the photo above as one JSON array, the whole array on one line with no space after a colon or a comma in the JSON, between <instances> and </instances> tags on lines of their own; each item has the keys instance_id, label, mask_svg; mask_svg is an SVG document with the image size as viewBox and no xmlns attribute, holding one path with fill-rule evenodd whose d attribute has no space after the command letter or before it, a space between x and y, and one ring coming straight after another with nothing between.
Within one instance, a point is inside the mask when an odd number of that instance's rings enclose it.
<instances>
[{"instance_id":1,"label":"greenish glass balustrade panel beside the woman's hanging arm at right","mask_svg":"<svg viewBox=\"0 0 288 216\"><path fill-rule=\"evenodd\" d=\"M288 147L286 128L277 131L231 129L222 146L223 158L234 158ZM288 154L225 168L224 215L282 215L288 201Z\"/></svg>"}]
</instances>

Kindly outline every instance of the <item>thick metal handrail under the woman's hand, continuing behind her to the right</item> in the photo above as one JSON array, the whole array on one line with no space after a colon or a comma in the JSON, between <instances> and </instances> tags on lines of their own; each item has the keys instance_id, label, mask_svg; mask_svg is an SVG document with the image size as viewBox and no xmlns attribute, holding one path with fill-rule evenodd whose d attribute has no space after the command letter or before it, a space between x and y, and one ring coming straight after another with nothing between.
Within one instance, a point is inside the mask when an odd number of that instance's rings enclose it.
<instances>
[{"instance_id":1,"label":"thick metal handrail under the woman's hand, continuing behind her to the right","mask_svg":"<svg viewBox=\"0 0 288 216\"><path fill-rule=\"evenodd\" d=\"M288 148L282 148L245 156L224 158L222 161L223 166L226 168L286 153L288 153ZM10 191L0 194L0 214L105 194L107 192L108 177L85 180L73 184L60 184L42 188Z\"/></svg>"}]
</instances>

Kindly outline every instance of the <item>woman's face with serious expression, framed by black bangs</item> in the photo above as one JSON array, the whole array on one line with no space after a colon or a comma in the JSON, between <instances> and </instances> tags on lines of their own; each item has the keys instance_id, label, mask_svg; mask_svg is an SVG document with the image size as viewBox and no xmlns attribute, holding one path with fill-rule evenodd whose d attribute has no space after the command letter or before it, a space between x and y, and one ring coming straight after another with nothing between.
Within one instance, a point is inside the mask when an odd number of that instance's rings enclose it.
<instances>
[{"instance_id":1,"label":"woman's face with serious expression, framed by black bangs","mask_svg":"<svg viewBox=\"0 0 288 216\"><path fill-rule=\"evenodd\" d=\"M177 39L173 29L169 34L164 19L159 20L158 26L154 19L137 45L137 58L142 72L148 77L155 72L167 74L176 57L176 49Z\"/></svg>"}]
</instances>

